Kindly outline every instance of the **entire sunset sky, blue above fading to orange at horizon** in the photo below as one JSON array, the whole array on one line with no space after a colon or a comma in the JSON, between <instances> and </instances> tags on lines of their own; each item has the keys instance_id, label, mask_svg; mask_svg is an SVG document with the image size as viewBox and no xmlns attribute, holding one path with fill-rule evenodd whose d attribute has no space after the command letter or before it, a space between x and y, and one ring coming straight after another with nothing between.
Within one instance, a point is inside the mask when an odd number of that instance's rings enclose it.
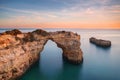
<instances>
[{"instance_id":1,"label":"entire sunset sky, blue above fading to orange at horizon","mask_svg":"<svg viewBox=\"0 0 120 80\"><path fill-rule=\"evenodd\" d=\"M0 28L120 29L120 0L0 0Z\"/></svg>"}]
</instances>

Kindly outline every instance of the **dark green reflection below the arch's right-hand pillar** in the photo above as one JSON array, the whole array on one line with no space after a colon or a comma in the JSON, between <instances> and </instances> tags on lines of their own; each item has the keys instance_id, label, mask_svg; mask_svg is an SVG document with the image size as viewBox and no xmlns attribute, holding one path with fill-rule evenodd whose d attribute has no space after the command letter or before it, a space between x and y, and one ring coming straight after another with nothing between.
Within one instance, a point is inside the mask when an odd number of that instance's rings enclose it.
<instances>
[{"instance_id":1,"label":"dark green reflection below the arch's right-hand pillar","mask_svg":"<svg viewBox=\"0 0 120 80\"><path fill-rule=\"evenodd\" d=\"M82 64L73 65L63 61L63 67L56 80L80 80L82 74Z\"/></svg>"}]
</instances>

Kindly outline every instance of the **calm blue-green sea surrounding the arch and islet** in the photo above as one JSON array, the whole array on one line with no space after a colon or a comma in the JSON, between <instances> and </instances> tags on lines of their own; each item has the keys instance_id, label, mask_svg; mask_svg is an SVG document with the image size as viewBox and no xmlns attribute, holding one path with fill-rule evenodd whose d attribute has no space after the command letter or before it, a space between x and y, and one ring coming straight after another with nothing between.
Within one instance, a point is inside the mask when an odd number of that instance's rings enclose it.
<instances>
[{"instance_id":1,"label":"calm blue-green sea surrounding the arch and islet","mask_svg":"<svg viewBox=\"0 0 120 80\"><path fill-rule=\"evenodd\" d=\"M0 29L4 32L9 29ZM21 29L23 32L35 29ZM120 80L120 30L45 29L67 30L81 35L84 61L72 65L62 59L62 50L49 40L41 52L40 60L20 80ZM90 37L110 40L107 49L89 43Z\"/></svg>"}]
</instances>

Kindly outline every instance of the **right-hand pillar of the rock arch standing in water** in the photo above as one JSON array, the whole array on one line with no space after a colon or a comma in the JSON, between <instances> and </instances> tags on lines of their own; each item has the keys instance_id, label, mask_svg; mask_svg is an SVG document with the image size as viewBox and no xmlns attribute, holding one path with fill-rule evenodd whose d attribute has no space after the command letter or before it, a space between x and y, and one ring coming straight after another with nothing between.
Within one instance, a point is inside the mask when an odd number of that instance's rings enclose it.
<instances>
[{"instance_id":1,"label":"right-hand pillar of the rock arch standing in water","mask_svg":"<svg viewBox=\"0 0 120 80\"><path fill-rule=\"evenodd\" d=\"M82 62L82 51L80 49L80 35L73 32L58 31L52 32L51 40L63 50L63 58L71 63L79 64Z\"/></svg>"}]
</instances>

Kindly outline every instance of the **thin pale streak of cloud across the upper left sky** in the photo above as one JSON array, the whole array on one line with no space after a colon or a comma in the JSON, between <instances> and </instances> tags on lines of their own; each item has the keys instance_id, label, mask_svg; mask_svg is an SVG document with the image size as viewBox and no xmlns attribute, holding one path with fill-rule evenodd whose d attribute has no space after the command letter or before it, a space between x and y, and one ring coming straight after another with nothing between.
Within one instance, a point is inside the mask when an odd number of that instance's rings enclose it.
<instances>
[{"instance_id":1,"label":"thin pale streak of cloud across the upper left sky","mask_svg":"<svg viewBox=\"0 0 120 80\"><path fill-rule=\"evenodd\" d=\"M28 19L28 18L32 17L32 19L36 18L36 20L39 20L39 19L44 19L44 18L57 18L58 17L57 15L55 15L52 12L42 12L42 11L23 10L23 9L21 10L21 9L1 7L1 6L0 6L0 9L12 11L12 13L17 12L17 14L19 14L19 15L16 15L16 16L12 15L12 18L20 18L21 16L24 16L24 17L26 17L24 19ZM22 13L22 15L21 15L21 13Z\"/></svg>"}]
</instances>

